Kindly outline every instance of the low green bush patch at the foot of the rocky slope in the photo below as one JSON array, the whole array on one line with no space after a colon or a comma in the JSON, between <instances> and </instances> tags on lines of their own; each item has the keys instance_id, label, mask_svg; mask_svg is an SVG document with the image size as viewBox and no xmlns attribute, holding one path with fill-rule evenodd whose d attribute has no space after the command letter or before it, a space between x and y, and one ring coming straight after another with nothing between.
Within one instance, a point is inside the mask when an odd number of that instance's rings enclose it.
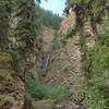
<instances>
[{"instance_id":1,"label":"low green bush patch at the foot of the rocky slope","mask_svg":"<svg viewBox=\"0 0 109 109\"><path fill-rule=\"evenodd\" d=\"M36 80L29 80L27 86L28 93L34 99L53 99L55 101L61 101L68 98L69 95L68 89L64 87L46 87Z\"/></svg>"}]
</instances>

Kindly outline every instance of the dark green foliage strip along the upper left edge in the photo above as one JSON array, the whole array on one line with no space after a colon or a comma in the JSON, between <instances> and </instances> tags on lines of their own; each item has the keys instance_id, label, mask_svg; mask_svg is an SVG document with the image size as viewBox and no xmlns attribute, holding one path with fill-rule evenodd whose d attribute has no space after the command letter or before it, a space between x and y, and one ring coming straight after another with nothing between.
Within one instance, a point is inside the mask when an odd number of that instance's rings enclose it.
<instances>
[{"instance_id":1,"label":"dark green foliage strip along the upper left edge","mask_svg":"<svg viewBox=\"0 0 109 109\"><path fill-rule=\"evenodd\" d=\"M11 14L11 1L0 0L0 46L1 47L5 47L8 43L10 14Z\"/></svg>"}]
</instances>

